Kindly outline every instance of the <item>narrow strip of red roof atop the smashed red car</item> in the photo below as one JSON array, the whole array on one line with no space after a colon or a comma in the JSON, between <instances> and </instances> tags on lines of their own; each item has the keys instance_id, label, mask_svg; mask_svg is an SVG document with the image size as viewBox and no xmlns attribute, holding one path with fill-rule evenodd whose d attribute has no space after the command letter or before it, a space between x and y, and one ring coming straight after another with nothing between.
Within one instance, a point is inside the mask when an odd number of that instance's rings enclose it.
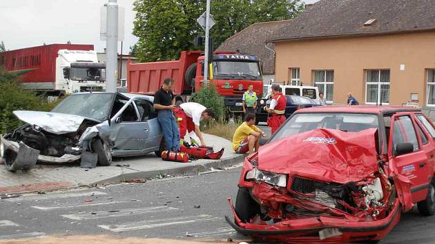
<instances>
[{"instance_id":1,"label":"narrow strip of red roof atop the smashed red car","mask_svg":"<svg viewBox=\"0 0 435 244\"><path fill-rule=\"evenodd\" d=\"M304 108L302 110L297 110L296 113L304 113L304 112L357 112L363 114L382 114L384 112L403 112L403 111L412 111L412 112L420 112L420 109L412 108L412 107L403 107L403 106L376 106L376 105L356 105L356 106L347 106L347 105L333 105L333 106L319 106L313 108Z\"/></svg>"}]
</instances>

